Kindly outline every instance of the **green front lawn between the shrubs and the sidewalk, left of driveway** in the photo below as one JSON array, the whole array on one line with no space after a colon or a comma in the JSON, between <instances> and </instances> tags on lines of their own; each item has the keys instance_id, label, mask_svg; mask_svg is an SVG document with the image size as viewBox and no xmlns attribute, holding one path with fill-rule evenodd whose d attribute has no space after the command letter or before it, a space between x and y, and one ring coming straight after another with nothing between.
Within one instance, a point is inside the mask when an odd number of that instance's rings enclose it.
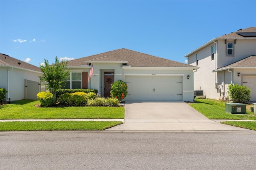
<instances>
[{"instance_id":1,"label":"green front lawn between the shrubs and the sidewalk, left of driveway","mask_svg":"<svg viewBox=\"0 0 256 170\"><path fill-rule=\"evenodd\" d=\"M20 100L0 106L0 119L124 119L124 107L35 107Z\"/></svg>"}]
</instances>

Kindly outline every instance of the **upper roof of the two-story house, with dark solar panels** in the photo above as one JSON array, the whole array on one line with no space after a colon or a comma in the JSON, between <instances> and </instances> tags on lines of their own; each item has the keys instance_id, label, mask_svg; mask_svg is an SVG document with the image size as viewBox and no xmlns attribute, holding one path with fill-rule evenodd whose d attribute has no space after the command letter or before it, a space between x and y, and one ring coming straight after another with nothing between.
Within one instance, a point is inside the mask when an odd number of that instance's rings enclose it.
<instances>
[{"instance_id":1,"label":"upper roof of the two-story house, with dark solar panels","mask_svg":"<svg viewBox=\"0 0 256 170\"><path fill-rule=\"evenodd\" d=\"M239 40L239 39L240 40L256 40L255 36L249 36L249 37L248 36L242 36L239 33L256 33L256 27L249 27L249 28L246 28L246 29L240 29L236 32L232 32L230 34L225 34L224 36L214 38L214 39L210 40L209 42L201 45L197 49L191 51L190 53L188 53L184 57L188 57L188 56L192 55L193 53L196 53L200 49L214 43L214 41L216 41L216 40Z\"/></svg>"}]
</instances>

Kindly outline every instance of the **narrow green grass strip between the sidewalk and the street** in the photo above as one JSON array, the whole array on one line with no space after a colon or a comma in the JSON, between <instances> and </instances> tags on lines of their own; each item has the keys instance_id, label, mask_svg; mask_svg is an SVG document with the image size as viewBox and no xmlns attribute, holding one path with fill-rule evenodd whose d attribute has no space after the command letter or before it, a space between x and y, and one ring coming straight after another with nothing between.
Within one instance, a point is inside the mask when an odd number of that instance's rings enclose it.
<instances>
[{"instance_id":1,"label":"narrow green grass strip between the sidewalk and the street","mask_svg":"<svg viewBox=\"0 0 256 170\"><path fill-rule=\"evenodd\" d=\"M104 130L120 124L120 121L1 122L0 131Z\"/></svg>"}]
</instances>

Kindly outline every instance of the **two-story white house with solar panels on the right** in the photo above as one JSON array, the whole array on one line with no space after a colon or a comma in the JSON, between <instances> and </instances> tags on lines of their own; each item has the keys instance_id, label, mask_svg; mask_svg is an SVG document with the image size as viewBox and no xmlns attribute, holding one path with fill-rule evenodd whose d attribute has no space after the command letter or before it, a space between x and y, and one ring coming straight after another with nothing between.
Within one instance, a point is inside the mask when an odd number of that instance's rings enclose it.
<instances>
[{"instance_id":1,"label":"two-story white house with solar panels on the right","mask_svg":"<svg viewBox=\"0 0 256 170\"><path fill-rule=\"evenodd\" d=\"M251 89L256 101L256 27L214 38L185 57L194 71L194 90L203 90L207 98L228 95L231 83Z\"/></svg>"}]
</instances>

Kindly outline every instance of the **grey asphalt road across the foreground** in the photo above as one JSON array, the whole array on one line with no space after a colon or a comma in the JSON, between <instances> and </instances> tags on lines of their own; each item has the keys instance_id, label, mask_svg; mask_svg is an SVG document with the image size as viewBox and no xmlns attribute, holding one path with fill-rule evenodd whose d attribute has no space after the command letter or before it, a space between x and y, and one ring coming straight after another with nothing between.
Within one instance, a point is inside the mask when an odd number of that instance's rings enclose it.
<instances>
[{"instance_id":1,"label":"grey asphalt road across the foreground","mask_svg":"<svg viewBox=\"0 0 256 170\"><path fill-rule=\"evenodd\" d=\"M256 134L0 133L2 170L256 167Z\"/></svg>"}]
</instances>

